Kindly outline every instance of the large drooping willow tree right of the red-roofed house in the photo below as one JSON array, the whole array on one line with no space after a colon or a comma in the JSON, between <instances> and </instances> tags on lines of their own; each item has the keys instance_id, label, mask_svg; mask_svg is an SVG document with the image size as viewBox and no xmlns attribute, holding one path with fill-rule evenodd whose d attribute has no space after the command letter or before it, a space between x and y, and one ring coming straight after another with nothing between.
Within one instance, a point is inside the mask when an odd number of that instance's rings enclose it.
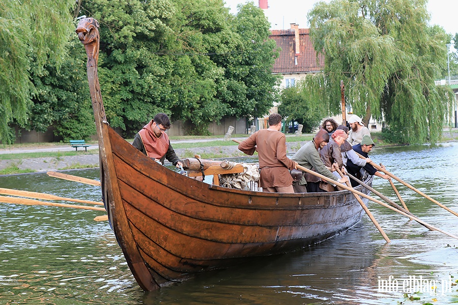
<instances>
[{"instance_id":1,"label":"large drooping willow tree right of the red-roofed house","mask_svg":"<svg viewBox=\"0 0 458 305\"><path fill-rule=\"evenodd\" d=\"M325 56L321 89L332 111L344 80L364 121L384 119L406 143L440 139L453 96L434 80L446 65L448 36L428 25L425 0L320 2L308 18L314 48Z\"/></svg>"}]
</instances>

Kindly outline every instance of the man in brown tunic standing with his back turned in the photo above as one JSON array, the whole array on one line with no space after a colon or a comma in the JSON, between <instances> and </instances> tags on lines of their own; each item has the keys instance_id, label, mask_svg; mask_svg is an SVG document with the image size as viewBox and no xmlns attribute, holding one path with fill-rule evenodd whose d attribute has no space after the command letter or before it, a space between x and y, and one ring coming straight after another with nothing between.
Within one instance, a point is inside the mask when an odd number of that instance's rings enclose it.
<instances>
[{"instance_id":1,"label":"man in brown tunic standing with his back turned","mask_svg":"<svg viewBox=\"0 0 458 305\"><path fill-rule=\"evenodd\" d=\"M239 149L252 156L257 150L263 192L294 193L290 170L297 163L286 156L286 137L280 132L281 115L269 115L269 128L253 133L239 144Z\"/></svg>"}]
</instances>

